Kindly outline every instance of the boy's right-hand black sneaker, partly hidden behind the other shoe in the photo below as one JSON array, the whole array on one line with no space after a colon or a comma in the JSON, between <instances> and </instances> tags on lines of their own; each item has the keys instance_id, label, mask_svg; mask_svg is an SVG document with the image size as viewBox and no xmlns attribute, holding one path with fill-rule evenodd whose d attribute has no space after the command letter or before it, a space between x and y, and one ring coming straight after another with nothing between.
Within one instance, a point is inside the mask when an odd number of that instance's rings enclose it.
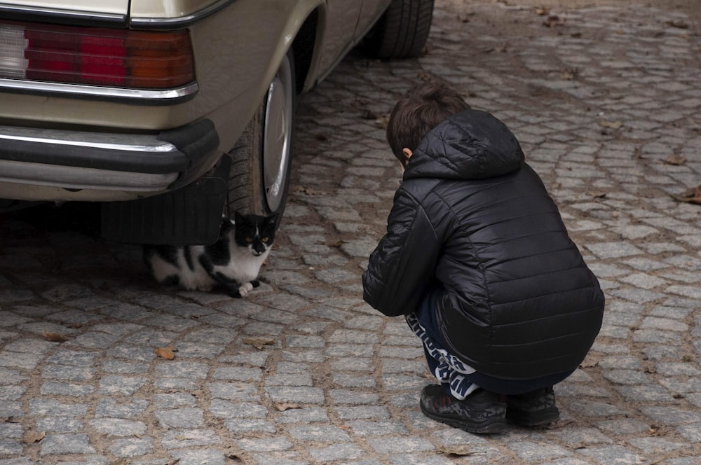
<instances>
[{"instance_id":1,"label":"boy's right-hand black sneaker, partly hidden behind the other shoe","mask_svg":"<svg viewBox=\"0 0 701 465\"><path fill-rule=\"evenodd\" d=\"M506 417L522 426L550 424L560 419L560 411L555 405L555 393L552 387L517 396L507 396L506 404Z\"/></svg>"}]
</instances>

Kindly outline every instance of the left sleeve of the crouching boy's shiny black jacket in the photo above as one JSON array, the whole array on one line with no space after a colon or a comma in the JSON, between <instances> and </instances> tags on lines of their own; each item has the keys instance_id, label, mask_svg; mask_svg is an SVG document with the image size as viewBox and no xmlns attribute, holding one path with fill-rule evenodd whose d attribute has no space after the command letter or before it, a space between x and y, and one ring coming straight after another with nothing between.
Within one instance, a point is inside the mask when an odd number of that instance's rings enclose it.
<instances>
[{"instance_id":1,"label":"left sleeve of the crouching boy's shiny black jacket","mask_svg":"<svg viewBox=\"0 0 701 465\"><path fill-rule=\"evenodd\" d=\"M389 317L414 312L433 283L440 248L421 204L406 192L397 193L387 234L362 277L365 301Z\"/></svg>"}]
</instances>

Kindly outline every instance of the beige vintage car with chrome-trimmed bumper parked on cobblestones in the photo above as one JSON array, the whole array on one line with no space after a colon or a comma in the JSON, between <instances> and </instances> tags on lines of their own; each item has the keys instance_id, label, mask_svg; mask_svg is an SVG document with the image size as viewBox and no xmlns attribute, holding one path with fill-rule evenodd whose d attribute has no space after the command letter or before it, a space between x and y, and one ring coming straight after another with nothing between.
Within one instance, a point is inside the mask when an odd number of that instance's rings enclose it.
<instances>
[{"instance_id":1,"label":"beige vintage car with chrome-trimmed bumper parked on cobblestones","mask_svg":"<svg viewBox=\"0 0 701 465\"><path fill-rule=\"evenodd\" d=\"M213 242L285 207L294 106L351 48L423 50L433 0L0 0L0 211L102 204L102 232ZM363 39L365 38L365 39Z\"/></svg>"}]
</instances>

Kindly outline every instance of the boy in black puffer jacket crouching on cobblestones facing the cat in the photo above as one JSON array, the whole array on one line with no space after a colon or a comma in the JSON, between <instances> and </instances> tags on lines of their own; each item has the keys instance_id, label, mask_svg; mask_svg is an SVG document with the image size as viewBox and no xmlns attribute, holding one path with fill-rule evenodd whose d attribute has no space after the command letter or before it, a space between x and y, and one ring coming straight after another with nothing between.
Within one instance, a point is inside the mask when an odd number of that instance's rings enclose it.
<instances>
[{"instance_id":1,"label":"boy in black puffer jacket crouching on cobblestones facing the cat","mask_svg":"<svg viewBox=\"0 0 701 465\"><path fill-rule=\"evenodd\" d=\"M409 91L387 139L403 181L364 298L404 315L438 384L421 410L496 433L559 419L553 384L601 328L604 294L514 134L442 83Z\"/></svg>"}]
</instances>

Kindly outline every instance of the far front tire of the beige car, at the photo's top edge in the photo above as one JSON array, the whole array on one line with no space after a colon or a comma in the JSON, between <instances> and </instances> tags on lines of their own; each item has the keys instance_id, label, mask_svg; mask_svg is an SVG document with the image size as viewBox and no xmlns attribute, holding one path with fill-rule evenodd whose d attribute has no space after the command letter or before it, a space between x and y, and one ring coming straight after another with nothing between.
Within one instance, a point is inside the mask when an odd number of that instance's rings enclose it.
<instances>
[{"instance_id":1,"label":"far front tire of the beige car, at the photo's top edge","mask_svg":"<svg viewBox=\"0 0 701 465\"><path fill-rule=\"evenodd\" d=\"M423 54L433 19L433 0L393 0L365 36L362 51L375 58Z\"/></svg>"}]
</instances>

